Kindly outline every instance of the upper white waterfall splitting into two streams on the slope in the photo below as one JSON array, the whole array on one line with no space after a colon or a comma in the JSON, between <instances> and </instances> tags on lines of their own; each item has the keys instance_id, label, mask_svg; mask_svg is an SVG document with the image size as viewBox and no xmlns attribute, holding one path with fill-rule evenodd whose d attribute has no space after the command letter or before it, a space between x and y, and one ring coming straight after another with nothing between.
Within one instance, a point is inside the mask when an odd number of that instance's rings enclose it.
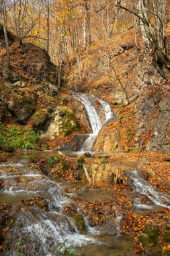
<instances>
[{"instance_id":1,"label":"upper white waterfall splitting into two streams on the slope","mask_svg":"<svg viewBox=\"0 0 170 256\"><path fill-rule=\"evenodd\" d=\"M86 139L86 141L83 143L83 146L81 148L81 151L91 151L93 148L93 143L95 142L95 139L97 138L97 135L99 134L99 131L101 130L102 124L99 115L97 114L97 110L93 106L93 104L89 101L87 96L85 94L77 94L73 93L73 96L81 101L81 103L85 106L85 110L87 112L89 123L91 125L91 129L93 133L89 134L89 137ZM98 100L101 104L103 111L105 113L105 123L109 120L114 118L114 113L112 113L110 104L106 102L105 100L101 100L93 95L91 97L95 98L95 100Z\"/></svg>"}]
</instances>

